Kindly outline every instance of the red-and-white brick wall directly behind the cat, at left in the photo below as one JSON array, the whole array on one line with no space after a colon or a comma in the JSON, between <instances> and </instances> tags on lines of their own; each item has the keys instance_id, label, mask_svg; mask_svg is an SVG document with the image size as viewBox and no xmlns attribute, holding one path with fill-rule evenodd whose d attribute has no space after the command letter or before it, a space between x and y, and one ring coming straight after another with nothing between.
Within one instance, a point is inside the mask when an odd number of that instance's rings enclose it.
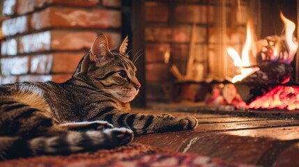
<instances>
[{"instance_id":1,"label":"red-and-white brick wall directly behind the cat, at left","mask_svg":"<svg viewBox=\"0 0 299 167\"><path fill-rule=\"evenodd\" d=\"M1 84L69 79L99 33L121 41L121 0L5 0Z\"/></svg>"}]
</instances>

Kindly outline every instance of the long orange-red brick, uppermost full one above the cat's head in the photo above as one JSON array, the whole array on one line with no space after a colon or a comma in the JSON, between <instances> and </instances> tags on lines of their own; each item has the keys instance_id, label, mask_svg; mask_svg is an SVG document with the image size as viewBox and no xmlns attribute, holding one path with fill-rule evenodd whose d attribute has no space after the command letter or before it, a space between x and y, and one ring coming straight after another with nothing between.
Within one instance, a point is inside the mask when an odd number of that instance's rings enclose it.
<instances>
[{"instance_id":1,"label":"long orange-red brick, uppermost full one above the cat's head","mask_svg":"<svg viewBox=\"0 0 299 167\"><path fill-rule=\"evenodd\" d=\"M36 30L50 27L116 29L121 27L121 11L50 7L34 13L31 26Z\"/></svg>"}]
</instances>

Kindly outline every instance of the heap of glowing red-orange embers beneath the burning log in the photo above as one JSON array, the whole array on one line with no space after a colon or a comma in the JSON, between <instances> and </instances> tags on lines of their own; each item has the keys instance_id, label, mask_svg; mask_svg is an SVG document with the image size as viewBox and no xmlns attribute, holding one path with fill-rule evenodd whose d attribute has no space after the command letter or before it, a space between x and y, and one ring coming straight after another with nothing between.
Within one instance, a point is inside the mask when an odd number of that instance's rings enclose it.
<instances>
[{"instance_id":1,"label":"heap of glowing red-orange embers beneath the burning log","mask_svg":"<svg viewBox=\"0 0 299 167\"><path fill-rule=\"evenodd\" d=\"M299 86L277 86L247 105L250 109L299 109Z\"/></svg>"}]
</instances>

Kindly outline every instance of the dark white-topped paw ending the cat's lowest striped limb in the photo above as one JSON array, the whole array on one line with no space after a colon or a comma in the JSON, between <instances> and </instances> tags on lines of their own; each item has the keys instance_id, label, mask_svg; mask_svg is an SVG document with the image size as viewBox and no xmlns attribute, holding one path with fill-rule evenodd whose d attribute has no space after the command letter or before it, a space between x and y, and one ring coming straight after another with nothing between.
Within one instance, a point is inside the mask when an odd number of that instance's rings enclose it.
<instances>
[{"instance_id":1,"label":"dark white-topped paw ending the cat's lowest striped limb","mask_svg":"<svg viewBox=\"0 0 299 167\"><path fill-rule=\"evenodd\" d=\"M134 138L134 133L131 129L127 128L114 128L114 129L107 129L104 131L106 134L112 138L115 145L126 145L130 143Z\"/></svg>"}]
</instances>

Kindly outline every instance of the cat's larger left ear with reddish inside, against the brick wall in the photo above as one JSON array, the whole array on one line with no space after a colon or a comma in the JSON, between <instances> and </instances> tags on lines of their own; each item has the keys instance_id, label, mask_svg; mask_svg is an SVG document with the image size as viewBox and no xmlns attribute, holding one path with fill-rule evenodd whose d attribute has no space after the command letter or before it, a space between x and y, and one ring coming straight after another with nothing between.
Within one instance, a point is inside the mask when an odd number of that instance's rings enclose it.
<instances>
[{"instance_id":1,"label":"cat's larger left ear with reddish inside, against the brick wall","mask_svg":"<svg viewBox=\"0 0 299 167\"><path fill-rule=\"evenodd\" d=\"M103 63L107 61L111 55L109 52L107 37L101 33L97 38L95 38L93 45L91 45L91 62Z\"/></svg>"}]
</instances>

